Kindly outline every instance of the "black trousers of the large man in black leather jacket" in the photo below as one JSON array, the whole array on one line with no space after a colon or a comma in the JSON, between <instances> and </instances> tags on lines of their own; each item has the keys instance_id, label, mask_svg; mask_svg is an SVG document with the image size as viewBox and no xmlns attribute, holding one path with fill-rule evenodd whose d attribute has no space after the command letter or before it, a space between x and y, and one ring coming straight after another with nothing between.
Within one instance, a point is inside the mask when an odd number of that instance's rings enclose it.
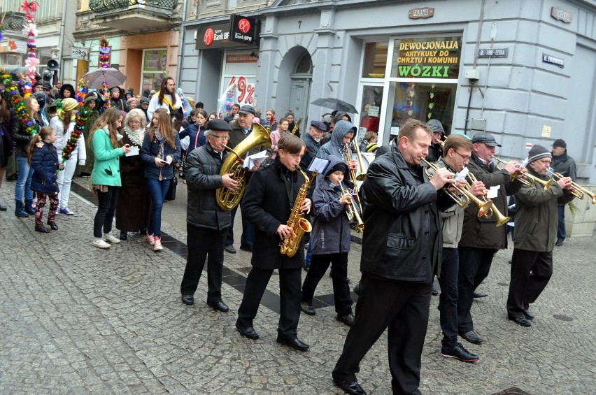
<instances>
[{"instance_id":1,"label":"black trousers of the large man in black leather jacket","mask_svg":"<svg viewBox=\"0 0 596 395\"><path fill-rule=\"evenodd\" d=\"M420 394L420 366L431 290L431 282L380 280L362 275L355 321L346 336L333 378L356 380L360 361L389 326L393 394Z\"/></svg>"}]
</instances>

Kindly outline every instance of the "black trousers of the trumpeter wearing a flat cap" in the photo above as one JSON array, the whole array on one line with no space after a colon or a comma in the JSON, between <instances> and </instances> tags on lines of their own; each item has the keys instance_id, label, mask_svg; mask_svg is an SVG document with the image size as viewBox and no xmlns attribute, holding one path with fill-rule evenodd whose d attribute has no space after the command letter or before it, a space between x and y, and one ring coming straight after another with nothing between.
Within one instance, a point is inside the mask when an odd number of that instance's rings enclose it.
<instances>
[{"instance_id":1,"label":"black trousers of the trumpeter wearing a flat cap","mask_svg":"<svg viewBox=\"0 0 596 395\"><path fill-rule=\"evenodd\" d=\"M474 331L474 321L471 318L474 290L488 277L495 249L459 247L457 250L460 254L460 271L457 275L457 321L460 333L466 333Z\"/></svg>"}]
</instances>

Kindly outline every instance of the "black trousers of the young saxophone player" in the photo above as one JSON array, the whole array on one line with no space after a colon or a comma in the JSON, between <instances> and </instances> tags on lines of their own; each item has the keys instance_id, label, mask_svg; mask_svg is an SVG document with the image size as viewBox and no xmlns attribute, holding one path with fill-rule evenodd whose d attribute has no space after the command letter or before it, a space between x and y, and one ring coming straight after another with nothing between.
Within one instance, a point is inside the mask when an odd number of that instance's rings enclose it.
<instances>
[{"instance_id":1,"label":"black trousers of the young saxophone player","mask_svg":"<svg viewBox=\"0 0 596 395\"><path fill-rule=\"evenodd\" d=\"M242 296L242 303L238 309L238 323L242 326L253 326L253 319L267 288L274 269L253 267L246 278L246 287ZM298 321L300 319L300 282L301 268L279 269L279 297L280 314L278 335L293 339L297 337Z\"/></svg>"}]
</instances>

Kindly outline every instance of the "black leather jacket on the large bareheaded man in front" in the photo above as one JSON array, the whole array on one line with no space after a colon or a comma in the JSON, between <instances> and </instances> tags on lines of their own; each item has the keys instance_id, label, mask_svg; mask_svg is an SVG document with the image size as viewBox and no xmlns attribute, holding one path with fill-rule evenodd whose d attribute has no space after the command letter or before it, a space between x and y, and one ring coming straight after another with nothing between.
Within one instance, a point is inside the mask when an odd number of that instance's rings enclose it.
<instances>
[{"instance_id":1,"label":"black leather jacket on the large bareheaded man in front","mask_svg":"<svg viewBox=\"0 0 596 395\"><path fill-rule=\"evenodd\" d=\"M423 167L409 165L395 145L371 163L362 189L360 270L387 280L432 282L443 260L439 210L453 200L437 192Z\"/></svg>"}]
</instances>

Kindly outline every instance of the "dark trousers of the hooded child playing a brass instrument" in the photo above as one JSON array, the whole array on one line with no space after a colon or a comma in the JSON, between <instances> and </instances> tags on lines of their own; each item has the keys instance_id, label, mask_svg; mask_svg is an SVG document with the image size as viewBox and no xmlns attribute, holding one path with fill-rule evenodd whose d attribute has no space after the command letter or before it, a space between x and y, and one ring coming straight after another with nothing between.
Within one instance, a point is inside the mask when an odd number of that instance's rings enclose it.
<instances>
[{"instance_id":1,"label":"dark trousers of the hooded child playing a brass instrument","mask_svg":"<svg viewBox=\"0 0 596 395\"><path fill-rule=\"evenodd\" d=\"M352 298L350 286L348 285L348 252L339 254L313 255L311 268L308 269L304 284L302 285L302 301L312 303L315 296L315 289L323 275L333 265L333 299L335 301L335 312L338 315L352 314Z\"/></svg>"}]
</instances>

